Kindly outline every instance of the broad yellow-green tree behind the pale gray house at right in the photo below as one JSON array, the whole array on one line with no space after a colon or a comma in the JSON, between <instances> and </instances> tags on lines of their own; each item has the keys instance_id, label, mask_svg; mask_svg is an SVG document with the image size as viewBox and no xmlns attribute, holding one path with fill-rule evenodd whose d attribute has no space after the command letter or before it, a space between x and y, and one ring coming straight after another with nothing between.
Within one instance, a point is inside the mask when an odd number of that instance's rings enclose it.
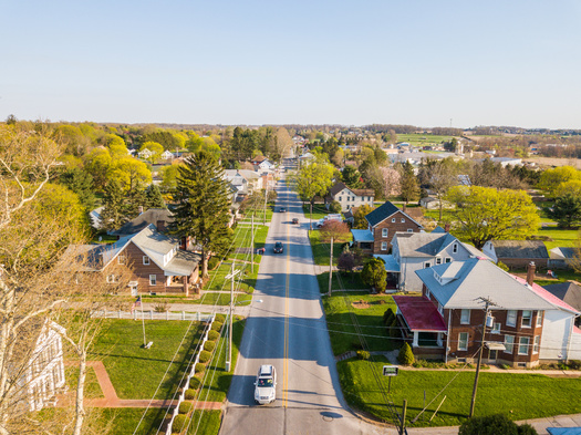
<instances>
[{"instance_id":1,"label":"broad yellow-green tree behind the pale gray house at right","mask_svg":"<svg viewBox=\"0 0 581 435\"><path fill-rule=\"evenodd\" d=\"M447 198L459 224L460 238L481 249L488 240L522 240L537 232L537 207L523 190L497 190L492 187L455 186Z\"/></svg>"}]
</instances>

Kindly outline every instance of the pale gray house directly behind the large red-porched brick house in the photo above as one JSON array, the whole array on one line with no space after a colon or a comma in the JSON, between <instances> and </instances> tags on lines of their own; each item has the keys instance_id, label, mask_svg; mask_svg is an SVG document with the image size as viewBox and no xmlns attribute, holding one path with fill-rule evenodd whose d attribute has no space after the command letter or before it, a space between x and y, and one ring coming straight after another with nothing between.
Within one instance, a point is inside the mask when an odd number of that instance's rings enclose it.
<instances>
[{"instance_id":1,"label":"pale gray house directly behind the large red-porched brick house","mask_svg":"<svg viewBox=\"0 0 581 435\"><path fill-rule=\"evenodd\" d=\"M396 232L388 256L376 255L385 261L387 280L392 288L422 291L422 280L416 270L470 258L490 258L475 247L463 244L449 232Z\"/></svg>"}]
</instances>

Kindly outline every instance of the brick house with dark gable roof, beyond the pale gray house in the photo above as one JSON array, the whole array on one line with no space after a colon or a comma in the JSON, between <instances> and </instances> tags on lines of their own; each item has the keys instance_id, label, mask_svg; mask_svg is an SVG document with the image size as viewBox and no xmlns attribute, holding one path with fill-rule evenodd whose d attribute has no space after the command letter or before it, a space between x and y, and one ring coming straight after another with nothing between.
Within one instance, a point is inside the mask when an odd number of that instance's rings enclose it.
<instances>
[{"instance_id":1,"label":"brick house with dark gable roof, beyond the pale gray house","mask_svg":"<svg viewBox=\"0 0 581 435\"><path fill-rule=\"evenodd\" d=\"M388 253L398 231L419 232L422 224L392 203L386 201L365 216L366 230L352 230L353 244L366 253Z\"/></svg>"}]
</instances>

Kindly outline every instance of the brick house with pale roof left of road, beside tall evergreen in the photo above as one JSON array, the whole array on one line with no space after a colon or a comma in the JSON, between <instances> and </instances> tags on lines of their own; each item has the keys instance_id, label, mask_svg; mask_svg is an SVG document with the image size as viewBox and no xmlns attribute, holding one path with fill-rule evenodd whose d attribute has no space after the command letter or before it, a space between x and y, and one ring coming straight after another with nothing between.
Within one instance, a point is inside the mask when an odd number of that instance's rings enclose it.
<instances>
[{"instance_id":1,"label":"brick house with pale roof left of road, beside tall evergreen","mask_svg":"<svg viewBox=\"0 0 581 435\"><path fill-rule=\"evenodd\" d=\"M157 231L148 225L141 231L120 238L111 245L74 245L65 255L83 256L85 272L97 272L107 282L114 263L132 269L133 293L185 293L199 281L200 256L181 249L180 240Z\"/></svg>"}]
</instances>

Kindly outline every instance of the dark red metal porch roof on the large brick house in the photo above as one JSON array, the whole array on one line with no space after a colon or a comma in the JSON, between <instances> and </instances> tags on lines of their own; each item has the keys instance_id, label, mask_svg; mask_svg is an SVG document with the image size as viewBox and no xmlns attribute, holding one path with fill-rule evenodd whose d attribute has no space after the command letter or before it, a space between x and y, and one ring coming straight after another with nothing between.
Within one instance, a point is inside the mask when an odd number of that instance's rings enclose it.
<instances>
[{"instance_id":1,"label":"dark red metal porch roof on the large brick house","mask_svg":"<svg viewBox=\"0 0 581 435\"><path fill-rule=\"evenodd\" d=\"M411 331L446 332L446 323L434 302L426 297L394 296L407 327Z\"/></svg>"}]
</instances>

